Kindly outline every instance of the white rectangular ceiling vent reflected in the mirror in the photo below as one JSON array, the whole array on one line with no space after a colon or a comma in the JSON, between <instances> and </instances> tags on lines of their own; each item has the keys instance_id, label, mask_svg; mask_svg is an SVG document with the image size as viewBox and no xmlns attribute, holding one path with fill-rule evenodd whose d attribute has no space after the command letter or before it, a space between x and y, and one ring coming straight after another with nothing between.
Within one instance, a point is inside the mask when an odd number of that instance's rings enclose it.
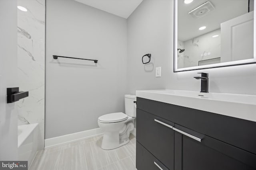
<instances>
[{"instance_id":1,"label":"white rectangular ceiling vent reflected in the mirror","mask_svg":"<svg viewBox=\"0 0 256 170\"><path fill-rule=\"evenodd\" d=\"M188 14L193 18L201 18L214 10L215 8L212 5L212 3L210 1L207 1L204 4L196 7L194 10L191 10L190 12L188 12Z\"/></svg>"}]
</instances>

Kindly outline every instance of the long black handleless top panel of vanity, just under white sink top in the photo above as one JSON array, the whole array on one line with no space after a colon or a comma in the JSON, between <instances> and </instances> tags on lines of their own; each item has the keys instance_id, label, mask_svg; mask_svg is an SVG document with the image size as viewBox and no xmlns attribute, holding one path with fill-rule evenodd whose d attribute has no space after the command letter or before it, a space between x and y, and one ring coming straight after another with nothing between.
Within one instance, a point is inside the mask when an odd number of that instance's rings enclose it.
<instances>
[{"instance_id":1,"label":"long black handleless top panel of vanity, just under white sink top","mask_svg":"<svg viewBox=\"0 0 256 170\"><path fill-rule=\"evenodd\" d=\"M256 122L144 98L137 108L256 154Z\"/></svg>"}]
</instances>

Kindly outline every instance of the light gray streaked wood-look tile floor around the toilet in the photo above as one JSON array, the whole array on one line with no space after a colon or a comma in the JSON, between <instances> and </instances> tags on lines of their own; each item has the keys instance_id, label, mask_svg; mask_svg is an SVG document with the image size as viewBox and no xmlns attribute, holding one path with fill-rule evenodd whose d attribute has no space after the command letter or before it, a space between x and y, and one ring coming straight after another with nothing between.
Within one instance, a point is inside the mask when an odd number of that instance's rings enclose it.
<instances>
[{"instance_id":1,"label":"light gray streaked wood-look tile floor around the toilet","mask_svg":"<svg viewBox=\"0 0 256 170\"><path fill-rule=\"evenodd\" d=\"M30 170L136 170L136 138L113 150L100 148L103 136L37 152Z\"/></svg>"}]
</instances>

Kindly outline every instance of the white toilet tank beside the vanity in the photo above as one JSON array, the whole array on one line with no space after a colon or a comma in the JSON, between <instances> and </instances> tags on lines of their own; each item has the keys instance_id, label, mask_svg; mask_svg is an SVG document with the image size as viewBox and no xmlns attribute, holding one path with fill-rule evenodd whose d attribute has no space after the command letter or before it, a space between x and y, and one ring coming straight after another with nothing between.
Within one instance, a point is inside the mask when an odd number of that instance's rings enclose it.
<instances>
[{"instance_id":1,"label":"white toilet tank beside the vanity","mask_svg":"<svg viewBox=\"0 0 256 170\"><path fill-rule=\"evenodd\" d=\"M136 107L134 104L136 96L133 94L124 95L125 113L130 117L136 117Z\"/></svg>"}]
</instances>

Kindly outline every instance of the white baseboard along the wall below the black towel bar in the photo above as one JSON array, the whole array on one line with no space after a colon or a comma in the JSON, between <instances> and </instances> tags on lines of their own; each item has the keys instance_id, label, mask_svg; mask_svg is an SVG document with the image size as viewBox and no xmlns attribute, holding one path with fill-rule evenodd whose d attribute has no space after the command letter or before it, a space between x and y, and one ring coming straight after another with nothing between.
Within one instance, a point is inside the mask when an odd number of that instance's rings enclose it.
<instances>
[{"instance_id":1,"label":"white baseboard along the wall below the black towel bar","mask_svg":"<svg viewBox=\"0 0 256 170\"><path fill-rule=\"evenodd\" d=\"M72 143L72 142L76 142L76 141L81 141L81 140L88 139L91 137L96 137L101 134L103 134L102 129L96 128L96 129L91 129L88 131L71 133L68 135L45 139L44 140L44 149L49 149L52 147L57 147L60 145L64 145L64 144L68 144L68 143Z\"/></svg>"}]
</instances>

